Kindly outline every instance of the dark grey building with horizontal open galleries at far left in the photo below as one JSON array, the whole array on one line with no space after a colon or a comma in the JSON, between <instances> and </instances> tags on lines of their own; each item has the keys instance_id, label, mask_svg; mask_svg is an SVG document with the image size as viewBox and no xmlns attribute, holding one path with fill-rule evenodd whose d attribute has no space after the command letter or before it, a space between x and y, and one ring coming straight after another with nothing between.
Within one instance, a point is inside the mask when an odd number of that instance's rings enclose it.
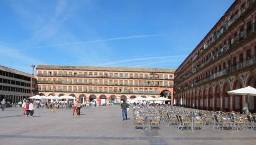
<instances>
[{"instance_id":1,"label":"dark grey building with horizontal open galleries at far left","mask_svg":"<svg viewBox=\"0 0 256 145\"><path fill-rule=\"evenodd\" d=\"M36 78L15 69L0 66L0 100L5 99L18 103L24 98L31 97L31 78L33 78L33 93L36 90Z\"/></svg>"}]
</instances>

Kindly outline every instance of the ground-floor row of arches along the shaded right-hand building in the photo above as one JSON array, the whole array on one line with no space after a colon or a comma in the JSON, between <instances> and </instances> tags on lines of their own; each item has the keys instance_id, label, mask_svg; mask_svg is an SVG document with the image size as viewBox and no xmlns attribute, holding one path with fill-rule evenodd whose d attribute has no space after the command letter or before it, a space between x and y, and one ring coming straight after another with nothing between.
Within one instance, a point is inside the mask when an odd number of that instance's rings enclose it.
<instances>
[{"instance_id":1,"label":"ground-floor row of arches along the shaded right-hand building","mask_svg":"<svg viewBox=\"0 0 256 145\"><path fill-rule=\"evenodd\" d=\"M249 104L249 111L256 112L256 98L242 95L229 95L227 92L243 87L251 86L256 88L256 74L250 74L245 81L242 78L234 78L232 81L225 81L215 84L198 87L175 94L176 104L188 108L202 110L224 110L242 112L244 106ZM247 100L249 100L247 102Z\"/></svg>"}]
</instances>

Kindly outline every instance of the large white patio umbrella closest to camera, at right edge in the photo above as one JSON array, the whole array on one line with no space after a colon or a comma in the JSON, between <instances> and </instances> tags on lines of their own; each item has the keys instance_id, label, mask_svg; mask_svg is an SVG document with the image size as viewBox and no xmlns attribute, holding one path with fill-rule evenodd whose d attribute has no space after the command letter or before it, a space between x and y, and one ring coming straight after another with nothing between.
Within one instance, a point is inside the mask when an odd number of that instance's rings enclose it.
<instances>
[{"instance_id":1,"label":"large white patio umbrella closest to camera, at right edge","mask_svg":"<svg viewBox=\"0 0 256 145\"><path fill-rule=\"evenodd\" d=\"M228 94L246 95L247 101L249 102L249 96L256 96L256 89L254 87L247 86L247 87L244 87L241 89L228 91L227 93ZM248 110L249 110L249 106L248 106Z\"/></svg>"}]
</instances>

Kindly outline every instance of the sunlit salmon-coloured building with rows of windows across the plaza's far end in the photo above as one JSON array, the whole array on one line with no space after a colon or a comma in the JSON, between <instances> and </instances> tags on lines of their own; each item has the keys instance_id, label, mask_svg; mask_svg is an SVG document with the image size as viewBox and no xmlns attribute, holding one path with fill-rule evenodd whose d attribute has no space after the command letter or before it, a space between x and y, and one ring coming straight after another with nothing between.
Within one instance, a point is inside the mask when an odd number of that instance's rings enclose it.
<instances>
[{"instance_id":1,"label":"sunlit salmon-coloured building with rows of windows across the plaza's far end","mask_svg":"<svg viewBox=\"0 0 256 145\"><path fill-rule=\"evenodd\" d=\"M173 100L175 69L38 65L40 95L71 95L79 100L168 97Z\"/></svg>"}]
</instances>

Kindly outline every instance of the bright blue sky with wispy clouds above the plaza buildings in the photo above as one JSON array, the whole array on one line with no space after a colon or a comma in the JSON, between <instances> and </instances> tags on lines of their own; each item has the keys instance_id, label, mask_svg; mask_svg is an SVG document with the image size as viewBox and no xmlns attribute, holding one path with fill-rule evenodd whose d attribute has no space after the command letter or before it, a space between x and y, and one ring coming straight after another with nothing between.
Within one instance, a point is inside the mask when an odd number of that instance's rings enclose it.
<instances>
[{"instance_id":1,"label":"bright blue sky with wispy clouds above the plaza buildings","mask_svg":"<svg viewBox=\"0 0 256 145\"><path fill-rule=\"evenodd\" d=\"M234 0L0 0L0 65L178 68Z\"/></svg>"}]
</instances>

